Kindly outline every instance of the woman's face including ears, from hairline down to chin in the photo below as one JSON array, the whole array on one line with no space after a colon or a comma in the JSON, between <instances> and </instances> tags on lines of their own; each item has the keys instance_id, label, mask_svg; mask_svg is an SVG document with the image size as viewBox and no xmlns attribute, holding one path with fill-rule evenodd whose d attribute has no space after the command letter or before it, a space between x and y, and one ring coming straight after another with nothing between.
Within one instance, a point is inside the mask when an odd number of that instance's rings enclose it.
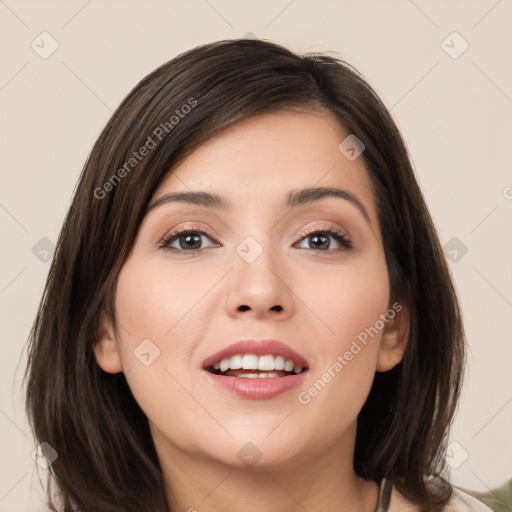
<instances>
[{"instance_id":1,"label":"woman's face including ears, from hairline down to chin","mask_svg":"<svg viewBox=\"0 0 512 512\"><path fill-rule=\"evenodd\" d=\"M159 454L260 468L350 458L374 373L405 345L368 173L351 139L339 149L349 135L328 114L253 117L205 142L155 192L118 278L119 335L104 322L95 350L104 370L124 371ZM343 192L298 195L324 187ZM216 194L225 207L164 200L177 192ZM241 339L278 340L307 370L204 369ZM288 359L282 346L260 348L277 356L264 364ZM260 373L280 376L240 376Z\"/></svg>"}]
</instances>

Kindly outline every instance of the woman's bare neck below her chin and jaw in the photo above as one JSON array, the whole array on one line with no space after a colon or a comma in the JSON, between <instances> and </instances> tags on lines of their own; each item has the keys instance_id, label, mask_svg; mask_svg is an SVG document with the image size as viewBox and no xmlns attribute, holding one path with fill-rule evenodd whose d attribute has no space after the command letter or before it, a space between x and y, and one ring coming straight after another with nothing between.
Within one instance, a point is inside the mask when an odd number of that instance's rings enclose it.
<instances>
[{"instance_id":1,"label":"woman's bare neck below her chin and jaw","mask_svg":"<svg viewBox=\"0 0 512 512\"><path fill-rule=\"evenodd\" d=\"M350 434L355 440L355 426ZM172 512L374 512L377 507L378 485L355 474L354 444L347 450L346 439L312 460L277 469L259 463L240 468L185 453L158 440L157 432L154 437Z\"/></svg>"}]
</instances>

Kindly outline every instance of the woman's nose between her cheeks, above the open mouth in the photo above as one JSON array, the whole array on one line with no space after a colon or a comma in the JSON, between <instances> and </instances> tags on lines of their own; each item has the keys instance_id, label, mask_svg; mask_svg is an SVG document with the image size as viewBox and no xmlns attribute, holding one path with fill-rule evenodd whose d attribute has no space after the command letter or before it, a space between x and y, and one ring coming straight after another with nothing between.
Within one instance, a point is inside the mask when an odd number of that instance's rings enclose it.
<instances>
[{"instance_id":1,"label":"woman's nose between her cheeks, above the open mouth","mask_svg":"<svg viewBox=\"0 0 512 512\"><path fill-rule=\"evenodd\" d=\"M260 246L261 247L261 246ZM244 249L247 249L244 253ZM295 296L289 282L286 262L264 247L254 260L246 257L256 250L250 241L234 255L234 268L229 276L226 310L232 317L252 316L254 319L284 320L293 315ZM257 253L256 253L257 254ZM240 256L241 255L241 256Z\"/></svg>"}]
</instances>

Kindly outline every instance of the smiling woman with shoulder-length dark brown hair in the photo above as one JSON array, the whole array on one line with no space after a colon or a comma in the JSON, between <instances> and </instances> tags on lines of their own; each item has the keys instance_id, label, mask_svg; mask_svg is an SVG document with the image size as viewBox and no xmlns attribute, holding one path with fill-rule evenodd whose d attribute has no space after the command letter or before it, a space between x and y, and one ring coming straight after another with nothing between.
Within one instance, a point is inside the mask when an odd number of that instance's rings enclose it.
<instances>
[{"instance_id":1,"label":"smiling woman with shoulder-length dark brown hair","mask_svg":"<svg viewBox=\"0 0 512 512\"><path fill-rule=\"evenodd\" d=\"M27 409L52 510L487 510L443 478L464 355L371 87L219 41L144 78L94 145Z\"/></svg>"}]
</instances>

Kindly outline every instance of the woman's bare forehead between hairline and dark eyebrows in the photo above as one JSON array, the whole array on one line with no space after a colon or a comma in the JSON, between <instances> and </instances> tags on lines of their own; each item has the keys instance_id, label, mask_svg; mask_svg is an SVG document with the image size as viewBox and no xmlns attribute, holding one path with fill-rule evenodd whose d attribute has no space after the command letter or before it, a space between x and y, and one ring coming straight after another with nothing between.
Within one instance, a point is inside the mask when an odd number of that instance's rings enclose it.
<instances>
[{"instance_id":1,"label":"woman's bare forehead between hairline and dark eyebrows","mask_svg":"<svg viewBox=\"0 0 512 512\"><path fill-rule=\"evenodd\" d=\"M361 157L340 144L350 133L327 112L279 111L235 123L204 142L171 170L150 204L173 191L209 191L226 209L284 206L292 189L336 187L375 217L371 182ZM264 201L264 203L262 203Z\"/></svg>"}]
</instances>

